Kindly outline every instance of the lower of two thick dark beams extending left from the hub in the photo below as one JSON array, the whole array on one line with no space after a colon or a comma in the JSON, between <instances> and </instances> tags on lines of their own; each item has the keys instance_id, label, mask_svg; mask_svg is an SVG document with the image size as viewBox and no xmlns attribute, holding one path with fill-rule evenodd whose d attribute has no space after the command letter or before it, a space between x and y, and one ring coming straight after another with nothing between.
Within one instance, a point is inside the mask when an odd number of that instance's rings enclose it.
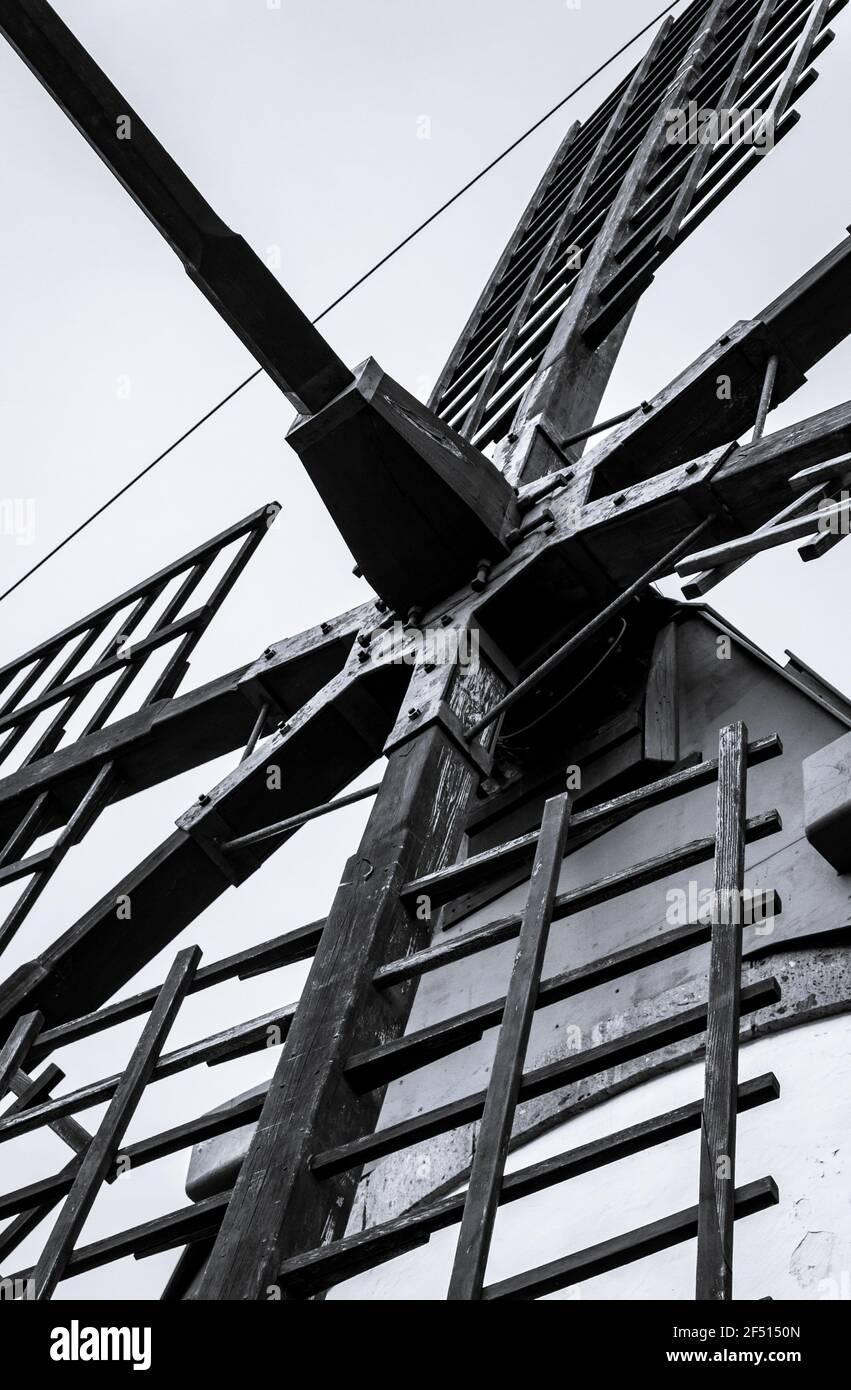
<instances>
[{"instance_id":1,"label":"lower of two thick dark beams extending left from the hub","mask_svg":"<svg viewBox=\"0 0 851 1390\"><path fill-rule=\"evenodd\" d=\"M50 1026L97 1009L286 837L227 856L222 840L259 830L275 813L313 806L317 794L341 791L380 756L409 678L409 669L385 666L366 676L343 670L330 681L248 762L203 794L179 828L111 892L0 987L6 1027L25 1008L40 1008ZM270 767L279 776L270 777Z\"/></svg>"}]
</instances>

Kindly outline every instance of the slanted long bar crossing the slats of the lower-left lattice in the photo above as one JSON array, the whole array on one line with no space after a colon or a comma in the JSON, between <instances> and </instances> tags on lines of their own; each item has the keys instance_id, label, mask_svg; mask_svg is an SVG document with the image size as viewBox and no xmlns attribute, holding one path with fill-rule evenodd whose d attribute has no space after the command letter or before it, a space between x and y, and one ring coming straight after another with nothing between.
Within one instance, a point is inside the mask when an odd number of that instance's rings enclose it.
<instances>
[{"instance_id":1,"label":"slanted long bar crossing the slats of the lower-left lattice","mask_svg":"<svg viewBox=\"0 0 851 1390\"><path fill-rule=\"evenodd\" d=\"M86 1216L89 1215L100 1184L103 1183L118 1145L124 1138L136 1105L157 1058L163 1048L171 1026L178 1015L179 1006L200 959L197 947L181 951L168 972L165 983L157 997L157 1002L150 1011L150 1017L142 1030L142 1036L133 1048L121 1081L115 1090L107 1113L100 1123L97 1133L86 1150L79 1165L74 1186L65 1198L65 1204L58 1215L50 1238L42 1251L33 1273L33 1297L38 1300L50 1298L57 1283L65 1272L68 1259L74 1251L76 1240Z\"/></svg>"}]
</instances>

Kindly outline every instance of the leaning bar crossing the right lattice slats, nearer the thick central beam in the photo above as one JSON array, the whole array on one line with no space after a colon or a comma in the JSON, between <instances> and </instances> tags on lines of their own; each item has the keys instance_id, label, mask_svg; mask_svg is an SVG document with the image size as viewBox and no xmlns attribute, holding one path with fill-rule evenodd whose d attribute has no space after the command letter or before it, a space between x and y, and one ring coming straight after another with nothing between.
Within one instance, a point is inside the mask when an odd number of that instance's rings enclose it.
<instances>
[{"instance_id":1,"label":"leaning bar crossing the right lattice slats, nearer the thick central beam","mask_svg":"<svg viewBox=\"0 0 851 1390\"><path fill-rule=\"evenodd\" d=\"M484 1287L569 819L567 792L546 802L449 1282L453 1301L481 1298Z\"/></svg>"}]
</instances>

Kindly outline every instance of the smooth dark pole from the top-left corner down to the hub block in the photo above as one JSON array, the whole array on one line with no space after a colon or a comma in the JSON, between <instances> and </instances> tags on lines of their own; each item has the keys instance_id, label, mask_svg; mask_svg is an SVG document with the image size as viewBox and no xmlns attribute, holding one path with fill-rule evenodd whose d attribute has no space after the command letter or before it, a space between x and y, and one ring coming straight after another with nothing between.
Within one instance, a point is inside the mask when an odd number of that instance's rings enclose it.
<instances>
[{"instance_id":1,"label":"smooth dark pole from the top-left corner down to the hub block","mask_svg":"<svg viewBox=\"0 0 851 1390\"><path fill-rule=\"evenodd\" d=\"M3 0L0 32L179 256L298 409L352 374L250 246L232 232L44 0Z\"/></svg>"}]
</instances>

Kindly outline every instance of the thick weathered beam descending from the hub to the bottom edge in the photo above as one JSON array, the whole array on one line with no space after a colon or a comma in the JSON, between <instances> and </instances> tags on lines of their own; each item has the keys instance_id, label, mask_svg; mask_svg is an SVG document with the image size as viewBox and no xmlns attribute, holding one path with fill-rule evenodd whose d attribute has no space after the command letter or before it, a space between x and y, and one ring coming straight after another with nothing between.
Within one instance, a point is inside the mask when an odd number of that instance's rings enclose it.
<instances>
[{"instance_id":1,"label":"thick weathered beam descending from the hub to the bottom edge","mask_svg":"<svg viewBox=\"0 0 851 1390\"><path fill-rule=\"evenodd\" d=\"M419 687L423 695L414 694ZM441 688L444 688L441 685ZM505 689L487 663L455 667L451 712L487 709ZM414 674L412 699L431 692ZM260 1298L284 1259L342 1234L356 1177L343 1172L317 1183L309 1159L317 1144L349 1141L371 1130L380 1098L357 1097L343 1065L349 1055L400 1033L412 991L391 1008L373 987L375 969L424 944L428 923L409 916L400 888L455 858L477 762L437 720L391 752L357 853L349 860L249 1154L197 1297Z\"/></svg>"}]
</instances>

